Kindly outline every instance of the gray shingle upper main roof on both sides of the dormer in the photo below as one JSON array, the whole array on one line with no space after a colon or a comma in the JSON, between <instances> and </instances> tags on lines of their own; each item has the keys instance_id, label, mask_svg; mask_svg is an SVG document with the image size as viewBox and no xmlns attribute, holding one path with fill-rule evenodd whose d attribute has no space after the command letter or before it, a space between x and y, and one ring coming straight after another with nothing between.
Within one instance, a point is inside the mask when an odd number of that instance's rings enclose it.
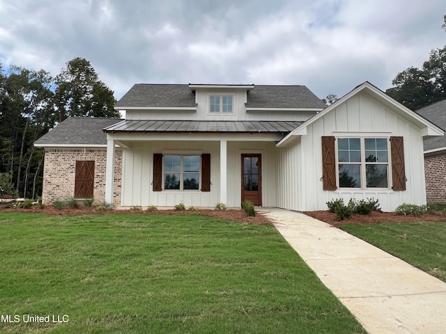
<instances>
[{"instance_id":1,"label":"gray shingle upper main roof on both sides of the dormer","mask_svg":"<svg viewBox=\"0 0 446 334\"><path fill-rule=\"evenodd\" d=\"M247 85L135 84L114 105L115 109L196 109L194 90L199 87L248 87ZM247 109L323 109L325 104L306 86L249 85Z\"/></svg>"}]
</instances>

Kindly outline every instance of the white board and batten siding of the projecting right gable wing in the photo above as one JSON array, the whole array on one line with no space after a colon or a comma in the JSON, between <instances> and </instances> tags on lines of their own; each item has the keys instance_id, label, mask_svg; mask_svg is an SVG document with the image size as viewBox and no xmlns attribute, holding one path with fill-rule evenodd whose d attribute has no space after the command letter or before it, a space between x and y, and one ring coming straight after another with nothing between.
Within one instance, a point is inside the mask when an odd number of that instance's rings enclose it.
<instances>
[{"instance_id":1,"label":"white board and batten siding of the projecting right gable wing","mask_svg":"<svg viewBox=\"0 0 446 334\"><path fill-rule=\"evenodd\" d=\"M403 136L406 164L406 190L339 190L324 191L322 177L322 136ZM390 148L390 145L389 145ZM290 190L278 186L278 205L286 209L314 211L327 209L326 202L333 198L357 200L375 198L383 211L394 211L403 202L422 205L426 203L424 178L423 143L420 129L398 113L388 109L371 95L361 92L340 104L325 116L307 126L307 134L300 141L282 148L278 154L279 175L293 177L289 159L300 160L302 179L297 187L295 202L287 197ZM297 162L296 161L296 162ZM391 173L390 173L391 174ZM291 182L290 182L291 183Z\"/></svg>"}]
</instances>

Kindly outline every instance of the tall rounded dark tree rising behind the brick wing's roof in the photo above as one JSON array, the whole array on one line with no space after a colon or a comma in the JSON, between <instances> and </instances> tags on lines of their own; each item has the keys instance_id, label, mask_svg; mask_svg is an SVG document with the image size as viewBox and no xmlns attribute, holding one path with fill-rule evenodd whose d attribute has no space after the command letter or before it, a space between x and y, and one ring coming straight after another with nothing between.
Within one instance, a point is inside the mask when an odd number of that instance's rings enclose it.
<instances>
[{"instance_id":1,"label":"tall rounded dark tree rising behind the brick wing's roof","mask_svg":"<svg viewBox=\"0 0 446 334\"><path fill-rule=\"evenodd\" d=\"M69 116L119 117L115 103L113 91L84 58L72 59L56 76L54 106L59 122Z\"/></svg>"}]
</instances>

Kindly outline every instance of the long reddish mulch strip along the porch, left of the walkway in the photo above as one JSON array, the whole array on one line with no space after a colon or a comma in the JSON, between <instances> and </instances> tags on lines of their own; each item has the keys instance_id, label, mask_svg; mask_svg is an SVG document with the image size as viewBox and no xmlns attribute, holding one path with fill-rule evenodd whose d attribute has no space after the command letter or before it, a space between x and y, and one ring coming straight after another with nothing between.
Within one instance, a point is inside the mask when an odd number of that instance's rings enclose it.
<instances>
[{"instance_id":1,"label":"long reddish mulch strip along the porch, left of the walkway","mask_svg":"<svg viewBox=\"0 0 446 334\"><path fill-rule=\"evenodd\" d=\"M146 211L146 210L95 210L89 207L82 207L79 209L55 209L51 205L40 209L34 207L32 209L19 209L10 208L6 209L0 207L0 212L31 212L31 213L41 213L41 214L51 214L51 215L67 215L67 214L198 214L200 216L208 216L213 218L224 218L230 221L238 221L241 223L253 224L253 225L272 225L272 221L261 214L256 214L254 217L247 216L246 212L242 209L226 209L226 210L212 210L212 209L202 209L199 211L176 211L176 210L156 210L156 211Z\"/></svg>"}]
</instances>

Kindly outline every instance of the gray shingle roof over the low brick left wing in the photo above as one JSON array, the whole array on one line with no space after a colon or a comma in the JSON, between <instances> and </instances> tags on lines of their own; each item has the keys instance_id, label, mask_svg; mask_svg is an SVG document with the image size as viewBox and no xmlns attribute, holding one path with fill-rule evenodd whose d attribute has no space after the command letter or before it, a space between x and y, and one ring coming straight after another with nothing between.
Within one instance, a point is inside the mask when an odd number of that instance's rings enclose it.
<instances>
[{"instance_id":1,"label":"gray shingle roof over the low brick left wing","mask_svg":"<svg viewBox=\"0 0 446 334\"><path fill-rule=\"evenodd\" d=\"M36 147L107 145L102 129L121 122L120 118L69 117L34 142Z\"/></svg>"}]
</instances>

